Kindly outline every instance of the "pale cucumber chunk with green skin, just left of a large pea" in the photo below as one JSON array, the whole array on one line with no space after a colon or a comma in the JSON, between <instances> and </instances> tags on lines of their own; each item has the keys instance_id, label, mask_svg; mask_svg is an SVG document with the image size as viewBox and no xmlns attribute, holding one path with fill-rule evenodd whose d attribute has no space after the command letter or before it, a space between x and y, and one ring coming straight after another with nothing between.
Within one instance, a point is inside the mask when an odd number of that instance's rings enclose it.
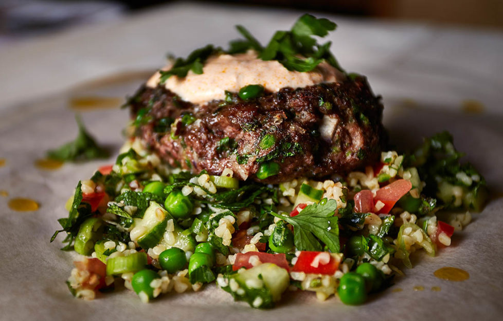
<instances>
[{"instance_id":1,"label":"pale cucumber chunk with green skin, just left of a large pea","mask_svg":"<svg viewBox=\"0 0 503 321\"><path fill-rule=\"evenodd\" d=\"M150 206L145 210L143 219L136 221L131 234L135 235L138 229L145 230L139 236L136 235L136 241L143 249L149 249L157 245L163 238L166 231L168 220L172 219L170 213L156 202L150 202Z\"/></svg>"}]
</instances>

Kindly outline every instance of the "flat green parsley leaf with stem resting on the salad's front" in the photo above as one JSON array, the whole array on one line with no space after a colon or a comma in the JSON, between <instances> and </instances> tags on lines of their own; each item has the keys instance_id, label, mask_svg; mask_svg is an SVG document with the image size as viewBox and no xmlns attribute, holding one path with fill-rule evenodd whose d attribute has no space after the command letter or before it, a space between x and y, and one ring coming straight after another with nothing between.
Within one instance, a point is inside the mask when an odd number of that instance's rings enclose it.
<instances>
[{"instance_id":1,"label":"flat green parsley leaf with stem resting on the salad's front","mask_svg":"<svg viewBox=\"0 0 503 321\"><path fill-rule=\"evenodd\" d=\"M323 251L323 242L333 253L339 253L338 218L334 216L337 209L335 200L321 200L311 204L297 216L285 217L275 212L271 214L294 227L294 243L298 251Z\"/></svg>"}]
</instances>

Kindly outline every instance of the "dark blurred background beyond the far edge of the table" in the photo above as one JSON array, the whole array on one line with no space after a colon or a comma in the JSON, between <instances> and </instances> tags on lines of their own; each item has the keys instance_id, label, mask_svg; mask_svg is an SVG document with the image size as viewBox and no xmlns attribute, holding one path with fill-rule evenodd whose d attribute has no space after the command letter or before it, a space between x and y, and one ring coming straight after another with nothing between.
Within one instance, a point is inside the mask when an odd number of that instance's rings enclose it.
<instances>
[{"instance_id":1,"label":"dark blurred background beyond the far edge of the table","mask_svg":"<svg viewBox=\"0 0 503 321\"><path fill-rule=\"evenodd\" d=\"M0 0L0 46L65 28L113 21L166 0ZM320 11L337 15L503 29L501 0L220 0L201 3Z\"/></svg>"}]
</instances>

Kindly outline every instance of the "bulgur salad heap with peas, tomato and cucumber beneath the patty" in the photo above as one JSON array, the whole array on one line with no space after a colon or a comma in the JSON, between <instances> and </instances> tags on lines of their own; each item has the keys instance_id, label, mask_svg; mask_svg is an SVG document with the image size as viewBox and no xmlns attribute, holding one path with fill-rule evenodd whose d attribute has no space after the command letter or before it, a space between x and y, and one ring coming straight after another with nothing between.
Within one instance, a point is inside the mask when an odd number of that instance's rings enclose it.
<instances>
[{"instance_id":1,"label":"bulgur salad heap with peas, tomato and cucumber beneath the patty","mask_svg":"<svg viewBox=\"0 0 503 321\"><path fill-rule=\"evenodd\" d=\"M123 284L148 302L216 282L254 308L287 290L363 304L482 209L486 183L461 157L443 132L361 172L264 185L170 168L130 138L78 183L51 241L64 233L63 249L84 256L67 281L84 299ZM439 210L452 213L442 221Z\"/></svg>"}]
</instances>

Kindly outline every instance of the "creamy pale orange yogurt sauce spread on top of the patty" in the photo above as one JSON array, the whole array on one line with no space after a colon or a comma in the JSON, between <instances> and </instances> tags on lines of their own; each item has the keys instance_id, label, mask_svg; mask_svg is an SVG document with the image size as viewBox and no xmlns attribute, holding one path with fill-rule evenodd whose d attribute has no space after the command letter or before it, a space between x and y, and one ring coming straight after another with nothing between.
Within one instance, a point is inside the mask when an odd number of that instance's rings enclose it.
<instances>
[{"instance_id":1,"label":"creamy pale orange yogurt sauce spread on top of the patty","mask_svg":"<svg viewBox=\"0 0 503 321\"><path fill-rule=\"evenodd\" d=\"M169 66L163 68L168 70ZM340 82L344 74L326 62L307 73L286 69L276 60L263 61L254 51L239 55L219 55L208 58L203 74L189 71L185 78L171 76L165 86L183 100L203 104L214 99L225 99L225 91L238 92L250 84L260 84L266 90L277 92L284 87L306 87L321 82ZM147 86L155 87L160 74L155 73Z\"/></svg>"}]
</instances>

